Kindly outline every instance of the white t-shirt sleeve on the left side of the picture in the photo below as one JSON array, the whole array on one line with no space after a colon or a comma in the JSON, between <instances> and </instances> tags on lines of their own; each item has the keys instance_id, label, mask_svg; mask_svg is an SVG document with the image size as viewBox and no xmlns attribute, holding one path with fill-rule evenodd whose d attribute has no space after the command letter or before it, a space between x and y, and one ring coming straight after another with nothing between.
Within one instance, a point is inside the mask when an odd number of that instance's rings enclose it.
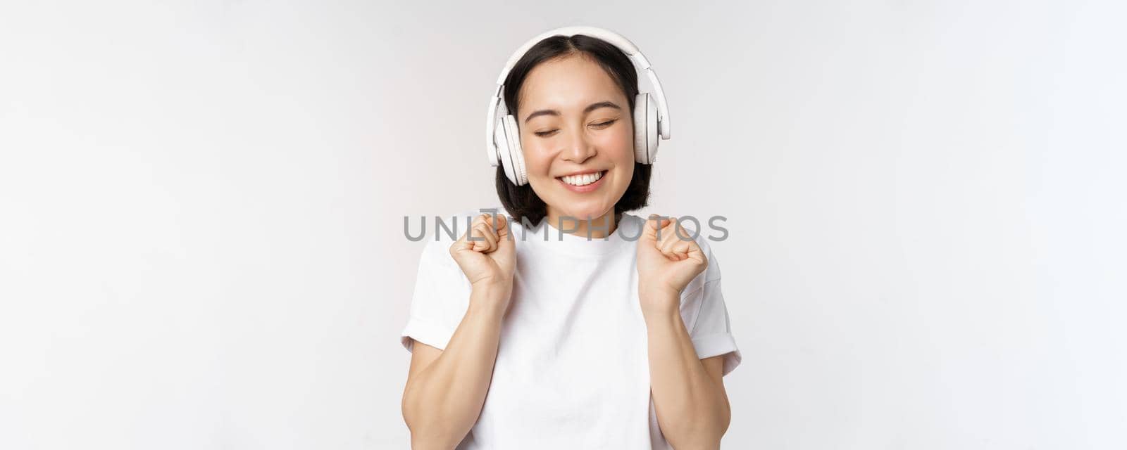
<instances>
[{"instance_id":1,"label":"white t-shirt sleeve on the left side of the picture","mask_svg":"<svg viewBox=\"0 0 1127 450\"><path fill-rule=\"evenodd\" d=\"M470 304L470 280L450 255L453 240L428 237L419 258L415 290L400 341L407 351L414 342L444 350Z\"/></svg>"}]
</instances>

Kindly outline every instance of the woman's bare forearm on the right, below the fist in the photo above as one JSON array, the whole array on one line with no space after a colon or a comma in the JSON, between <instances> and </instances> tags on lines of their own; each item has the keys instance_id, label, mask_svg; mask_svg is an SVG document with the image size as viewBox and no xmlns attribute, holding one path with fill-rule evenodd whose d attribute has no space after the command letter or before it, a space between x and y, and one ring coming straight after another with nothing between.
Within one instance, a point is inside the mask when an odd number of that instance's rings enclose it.
<instances>
[{"instance_id":1,"label":"woman's bare forearm on the right, below the fist","mask_svg":"<svg viewBox=\"0 0 1127 450\"><path fill-rule=\"evenodd\" d=\"M678 305L680 295L650 304ZM696 356L681 312L645 312L650 388L662 433L678 450L718 449L728 429L727 398Z\"/></svg>"}]
</instances>

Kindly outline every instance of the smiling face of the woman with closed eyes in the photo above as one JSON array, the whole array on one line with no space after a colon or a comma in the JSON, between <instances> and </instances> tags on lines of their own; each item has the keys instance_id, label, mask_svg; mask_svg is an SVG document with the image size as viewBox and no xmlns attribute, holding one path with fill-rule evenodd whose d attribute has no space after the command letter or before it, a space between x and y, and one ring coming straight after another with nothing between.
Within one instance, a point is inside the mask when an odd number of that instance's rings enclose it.
<instances>
[{"instance_id":1,"label":"smiling face of the woman with closed eyes","mask_svg":"<svg viewBox=\"0 0 1127 450\"><path fill-rule=\"evenodd\" d=\"M613 214L635 168L630 104L614 80L588 56L570 54L536 65L520 96L529 184L551 224ZM566 177L576 173L586 176Z\"/></svg>"}]
</instances>

